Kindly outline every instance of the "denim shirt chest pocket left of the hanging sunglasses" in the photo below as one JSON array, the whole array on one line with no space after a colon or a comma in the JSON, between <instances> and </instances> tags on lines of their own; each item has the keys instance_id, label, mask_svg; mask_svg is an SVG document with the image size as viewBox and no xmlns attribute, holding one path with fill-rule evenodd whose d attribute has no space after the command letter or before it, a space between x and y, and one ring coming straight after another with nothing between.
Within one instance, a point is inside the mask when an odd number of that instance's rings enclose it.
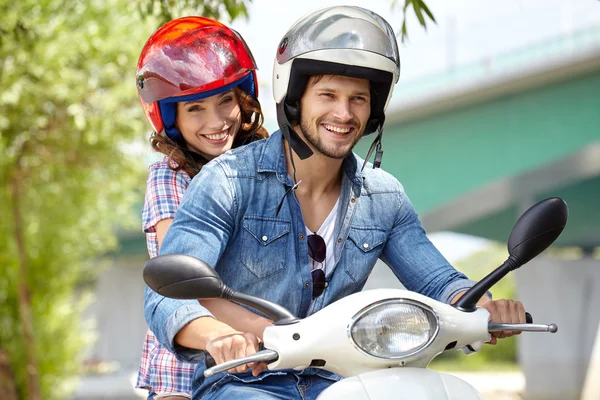
<instances>
[{"instance_id":1,"label":"denim shirt chest pocket left of the hanging sunglasses","mask_svg":"<svg viewBox=\"0 0 600 400\"><path fill-rule=\"evenodd\" d=\"M244 217L241 262L258 278L285 268L291 222L262 217Z\"/></svg>"}]
</instances>

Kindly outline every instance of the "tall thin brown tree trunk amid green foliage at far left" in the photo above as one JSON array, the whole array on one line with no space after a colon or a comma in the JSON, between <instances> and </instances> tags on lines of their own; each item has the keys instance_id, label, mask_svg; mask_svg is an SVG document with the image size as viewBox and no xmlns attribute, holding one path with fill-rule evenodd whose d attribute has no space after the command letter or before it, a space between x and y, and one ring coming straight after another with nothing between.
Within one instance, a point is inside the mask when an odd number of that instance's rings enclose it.
<instances>
[{"instance_id":1,"label":"tall thin brown tree trunk amid green foliage at far left","mask_svg":"<svg viewBox=\"0 0 600 400\"><path fill-rule=\"evenodd\" d=\"M27 253L25 250L25 237L23 234L23 215L21 214L21 179L19 174L13 175L12 185L12 212L15 223L15 242L17 244L19 262L19 314L21 317L21 330L25 339L25 374L27 383L27 399L42 400L40 380L38 375L37 354L35 338L33 336L33 320L31 318L31 296L27 285Z\"/></svg>"}]
</instances>

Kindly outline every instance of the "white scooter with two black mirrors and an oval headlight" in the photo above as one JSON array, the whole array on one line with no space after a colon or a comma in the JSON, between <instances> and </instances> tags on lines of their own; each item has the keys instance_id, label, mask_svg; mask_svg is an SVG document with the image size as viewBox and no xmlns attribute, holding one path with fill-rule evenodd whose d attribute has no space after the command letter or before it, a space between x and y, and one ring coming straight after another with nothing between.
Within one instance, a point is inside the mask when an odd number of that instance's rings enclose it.
<instances>
[{"instance_id":1,"label":"white scooter with two black mirrors and an oval headlight","mask_svg":"<svg viewBox=\"0 0 600 400\"><path fill-rule=\"evenodd\" d=\"M163 296L224 298L259 310L274 321L264 331L264 350L208 368L206 377L266 362L270 370L323 368L344 378L324 390L318 400L482 399L463 380L426 367L446 350L480 350L490 340L489 332L557 331L554 324L492 323L488 311L475 304L508 272L554 242L567 215L567 205L560 198L546 199L527 210L511 232L509 258L453 306L406 290L376 289L347 296L299 319L277 304L234 292L210 266L186 255L148 261L144 280Z\"/></svg>"}]
</instances>

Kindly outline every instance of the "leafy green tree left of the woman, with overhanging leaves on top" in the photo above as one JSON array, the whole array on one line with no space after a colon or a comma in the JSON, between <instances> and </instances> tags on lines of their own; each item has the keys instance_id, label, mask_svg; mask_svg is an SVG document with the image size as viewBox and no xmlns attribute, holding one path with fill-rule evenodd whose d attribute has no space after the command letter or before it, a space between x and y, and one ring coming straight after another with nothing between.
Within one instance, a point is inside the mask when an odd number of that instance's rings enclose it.
<instances>
[{"instance_id":1,"label":"leafy green tree left of the woman, with overhanging leaves on top","mask_svg":"<svg viewBox=\"0 0 600 400\"><path fill-rule=\"evenodd\" d=\"M0 0L4 398L64 397L90 344L78 282L143 196L143 167L123 151L146 130L133 84L141 44L178 16L246 17L250 1Z\"/></svg>"}]
</instances>

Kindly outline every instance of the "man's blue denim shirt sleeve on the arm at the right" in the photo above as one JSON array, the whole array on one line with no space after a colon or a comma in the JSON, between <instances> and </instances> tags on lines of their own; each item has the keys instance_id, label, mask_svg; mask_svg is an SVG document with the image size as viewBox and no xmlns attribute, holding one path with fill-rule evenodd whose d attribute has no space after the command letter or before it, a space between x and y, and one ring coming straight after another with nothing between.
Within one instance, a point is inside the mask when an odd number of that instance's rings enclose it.
<instances>
[{"instance_id":1,"label":"man's blue denim shirt sleeve on the arm at the right","mask_svg":"<svg viewBox=\"0 0 600 400\"><path fill-rule=\"evenodd\" d=\"M401 188L401 186L400 186ZM400 190L394 226L381 259L411 291L450 303L475 282L457 271L427 237L417 212Z\"/></svg>"}]
</instances>

